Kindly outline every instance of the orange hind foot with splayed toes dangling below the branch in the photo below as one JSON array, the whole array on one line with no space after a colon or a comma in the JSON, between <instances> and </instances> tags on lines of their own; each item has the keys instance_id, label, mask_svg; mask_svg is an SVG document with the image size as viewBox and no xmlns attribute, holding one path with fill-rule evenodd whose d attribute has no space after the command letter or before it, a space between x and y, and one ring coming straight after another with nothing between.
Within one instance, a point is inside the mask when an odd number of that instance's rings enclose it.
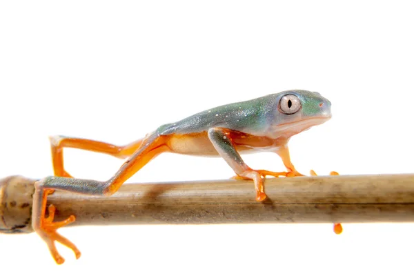
<instances>
[{"instance_id":1,"label":"orange hind foot with splayed toes dangling below the branch","mask_svg":"<svg viewBox=\"0 0 414 276\"><path fill-rule=\"evenodd\" d=\"M66 239L66 237L63 237L56 232L56 230L62 226L66 226L75 221L75 216L71 215L68 217L68 219L65 219L63 221L53 222L53 219L55 218L56 208L50 204L48 210L49 216L43 217L41 219L41 230L43 230L43 235L41 236L46 244L48 244L50 254L52 254L53 259L55 259L55 262L57 262L57 264L63 264L63 262L65 262L65 259L63 259L63 257L61 257L61 255L57 252L55 242L59 242L64 246L68 246L68 248L73 250L76 258L79 259L79 257L81 257L81 252L78 250L75 244L72 244L72 242Z\"/></svg>"}]
</instances>

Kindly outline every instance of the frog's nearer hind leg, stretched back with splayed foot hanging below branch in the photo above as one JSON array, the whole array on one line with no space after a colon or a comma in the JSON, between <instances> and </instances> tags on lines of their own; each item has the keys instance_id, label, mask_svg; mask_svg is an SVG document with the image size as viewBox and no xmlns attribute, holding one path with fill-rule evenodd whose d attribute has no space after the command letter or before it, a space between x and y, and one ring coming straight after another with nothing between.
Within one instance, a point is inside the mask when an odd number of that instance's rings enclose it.
<instances>
[{"instance_id":1,"label":"frog's nearer hind leg, stretched back with splayed foot hanging below branch","mask_svg":"<svg viewBox=\"0 0 414 276\"><path fill-rule=\"evenodd\" d=\"M55 248L55 242L68 246L74 252L76 257L80 257L79 250L68 239L59 235L56 230L75 221L74 216L59 222L52 222L55 213L55 207L50 206L50 217L45 217L47 196L52 190L67 190L74 193L86 195L105 195L109 196L115 193L124 182L135 174L139 169L145 166L151 159L161 152L169 150L166 146L168 137L158 137L154 134L144 139L142 146L119 168L115 175L108 181L96 181L87 179L75 179L68 177L46 177L37 181L33 195L32 207L32 227L40 237L48 244L50 253L58 264L65 261Z\"/></svg>"}]
</instances>

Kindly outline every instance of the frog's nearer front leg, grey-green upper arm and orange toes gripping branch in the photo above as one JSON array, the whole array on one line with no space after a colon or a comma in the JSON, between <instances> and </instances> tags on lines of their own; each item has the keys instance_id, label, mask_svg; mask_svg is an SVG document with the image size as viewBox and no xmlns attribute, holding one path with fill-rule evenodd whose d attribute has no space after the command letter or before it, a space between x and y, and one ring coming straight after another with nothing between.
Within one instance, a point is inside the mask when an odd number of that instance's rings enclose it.
<instances>
[{"instance_id":1,"label":"frog's nearer front leg, grey-green upper arm and orange toes gripping branch","mask_svg":"<svg viewBox=\"0 0 414 276\"><path fill-rule=\"evenodd\" d=\"M219 152L219 155L224 158L227 164L233 168L235 173L243 179L252 179L255 183L256 200L263 201L266 199L264 193L264 185L262 176L272 175L274 177L286 176L286 172L270 172L268 170L253 170L244 163L242 157L235 148L235 144L231 139L231 132L227 128L210 128L208 130L208 138Z\"/></svg>"}]
</instances>

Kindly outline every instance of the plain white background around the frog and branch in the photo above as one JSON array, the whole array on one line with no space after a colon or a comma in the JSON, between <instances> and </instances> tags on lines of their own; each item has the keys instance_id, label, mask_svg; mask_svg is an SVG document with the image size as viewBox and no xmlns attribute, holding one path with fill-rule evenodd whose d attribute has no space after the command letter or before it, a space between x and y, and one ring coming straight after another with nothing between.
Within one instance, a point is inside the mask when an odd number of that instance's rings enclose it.
<instances>
[{"instance_id":1,"label":"plain white background around the frog and branch","mask_svg":"<svg viewBox=\"0 0 414 276\"><path fill-rule=\"evenodd\" d=\"M224 103L299 88L333 119L290 141L300 172L413 172L409 1L2 1L0 177L52 174L49 135L127 144ZM66 150L75 177L119 159ZM276 155L246 156L284 170ZM223 179L222 159L161 155L130 182ZM64 228L57 266L37 235L0 235L1 275L412 273L412 224ZM259 245L258 240L265 241ZM56 274L55 274L56 275Z\"/></svg>"}]
</instances>

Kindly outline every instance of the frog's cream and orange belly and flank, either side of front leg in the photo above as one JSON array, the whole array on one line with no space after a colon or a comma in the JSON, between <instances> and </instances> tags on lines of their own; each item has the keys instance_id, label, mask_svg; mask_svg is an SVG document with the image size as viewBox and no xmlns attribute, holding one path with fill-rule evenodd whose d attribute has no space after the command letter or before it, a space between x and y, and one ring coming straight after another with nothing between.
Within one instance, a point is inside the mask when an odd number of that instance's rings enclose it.
<instances>
[{"instance_id":1,"label":"frog's cream and orange belly and flank, either side of front leg","mask_svg":"<svg viewBox=\"0 0 414 276\"><path fill-rule=\"evenodd\" d=\"M264 137L253 137L251 135L246 137L246 135L233 132L230 136L235 143L236 150L240 153L270 151L278 146L275 141L264 139ZM168 135L167 145L172 152L183 155L219 156L210 139L208 139L207 132Z\"/></svg>"}]
</instances>

